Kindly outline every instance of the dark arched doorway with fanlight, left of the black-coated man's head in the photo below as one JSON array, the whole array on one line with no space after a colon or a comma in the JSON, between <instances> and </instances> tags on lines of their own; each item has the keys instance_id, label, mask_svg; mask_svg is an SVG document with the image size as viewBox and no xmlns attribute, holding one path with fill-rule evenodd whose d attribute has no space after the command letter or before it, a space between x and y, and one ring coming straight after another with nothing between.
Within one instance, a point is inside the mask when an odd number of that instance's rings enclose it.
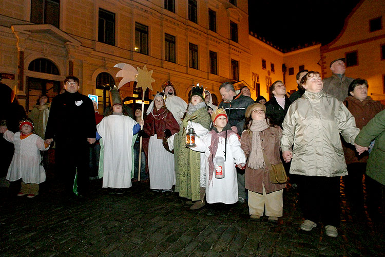
<instances>
[{"instance_id":1,"label":"dark arched doorway with fanlight, left of the black-coated man's head","mask_svg":"<svg viewBox=\"0 0 385 257\"><path fill-rule=\"evenodd\" d=\"M44 58L38 58L30 62L28 70L60 76L59 69L56 65ZM47 95L52 99L59 94L61 81L27 77L26 85L28 89L26 107L28 108L27 112L30 112L41 95Z\"/></svg>"}]
</instances>

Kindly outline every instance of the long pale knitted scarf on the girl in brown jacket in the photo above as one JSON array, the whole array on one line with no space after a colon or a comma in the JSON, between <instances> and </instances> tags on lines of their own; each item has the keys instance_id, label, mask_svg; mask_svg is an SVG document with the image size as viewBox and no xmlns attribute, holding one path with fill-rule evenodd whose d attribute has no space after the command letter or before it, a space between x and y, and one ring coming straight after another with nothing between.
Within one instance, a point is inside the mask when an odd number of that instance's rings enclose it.
<instances>
[{"instance_id":1,"label":"long pale knitted scarf on the girl in brown jacket","mask_svg":"<svg viewBox=\"0 0 385 257\"><path fill-rule=\"evenodd\" d=\"M250 126L250 130L253 132L253 138L252 151L248 157L247 166L253 170L258 170L265 166L259 132L265 130L266 128L268 128L266 119L253 120L252 125Z\"/></svg>"}]
</instances>

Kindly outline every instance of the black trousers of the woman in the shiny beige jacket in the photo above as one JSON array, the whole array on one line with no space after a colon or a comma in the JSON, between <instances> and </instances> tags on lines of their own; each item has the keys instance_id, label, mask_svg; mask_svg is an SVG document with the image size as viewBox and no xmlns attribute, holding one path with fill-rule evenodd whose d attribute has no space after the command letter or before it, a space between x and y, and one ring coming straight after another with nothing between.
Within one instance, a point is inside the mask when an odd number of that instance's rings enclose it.
<instances>
[{"instance_id":1,"label":"black trousers of the woman in the shiny beige jacket","mask_svg":"<svg viewBox=\"0 0 385 257\"><path fill-rule=\"evenodd\" d=\"M337 227L340 223L340 177L298 176L305 219Z\"/></svg>"}]
</instances>

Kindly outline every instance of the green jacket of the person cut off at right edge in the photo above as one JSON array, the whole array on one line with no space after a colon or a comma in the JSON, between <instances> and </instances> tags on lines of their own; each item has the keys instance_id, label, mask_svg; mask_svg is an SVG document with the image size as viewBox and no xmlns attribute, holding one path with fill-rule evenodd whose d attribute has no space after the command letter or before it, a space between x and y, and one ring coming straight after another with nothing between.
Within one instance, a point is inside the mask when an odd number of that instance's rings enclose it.
<instances>
[{"instance_id":1,"label":"green jacket of the person cut off at right edge","mask_svg":"<svg viewBox=\"0 0 385 257\"><path fill-rule=\"evenodd\" d=\"M385 185L385 110L371 119L356 137L355 143L369 146L375 140L369 155L367 175Z\"/></svg>"}]
</instances>

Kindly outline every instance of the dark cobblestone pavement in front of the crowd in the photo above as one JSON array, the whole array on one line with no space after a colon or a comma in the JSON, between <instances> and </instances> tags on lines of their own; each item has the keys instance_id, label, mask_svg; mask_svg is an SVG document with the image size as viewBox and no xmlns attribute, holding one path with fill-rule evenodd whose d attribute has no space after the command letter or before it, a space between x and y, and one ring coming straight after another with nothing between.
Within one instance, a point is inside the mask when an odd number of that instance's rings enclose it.
<instances>
[{"instance_id":1,"label":"dark cobblestone pavement in front of the crowd","mask_svg":"<svg viewBox=\"0 0 385 257\"><path fill-rule=\"evenodd\" d=\"M331 238L321 225L299 229L292 188L284 191L277 224L250 219L240 203L228 212L213 205L190 211L174 193L141 182L109 195L92 180L88 198L69 199L47 174L37 197L17 191L17 182L0 188L0 256L385 256L384 225L356 221L343 197L339 236Z\"/></svg>"}]
</instances>

